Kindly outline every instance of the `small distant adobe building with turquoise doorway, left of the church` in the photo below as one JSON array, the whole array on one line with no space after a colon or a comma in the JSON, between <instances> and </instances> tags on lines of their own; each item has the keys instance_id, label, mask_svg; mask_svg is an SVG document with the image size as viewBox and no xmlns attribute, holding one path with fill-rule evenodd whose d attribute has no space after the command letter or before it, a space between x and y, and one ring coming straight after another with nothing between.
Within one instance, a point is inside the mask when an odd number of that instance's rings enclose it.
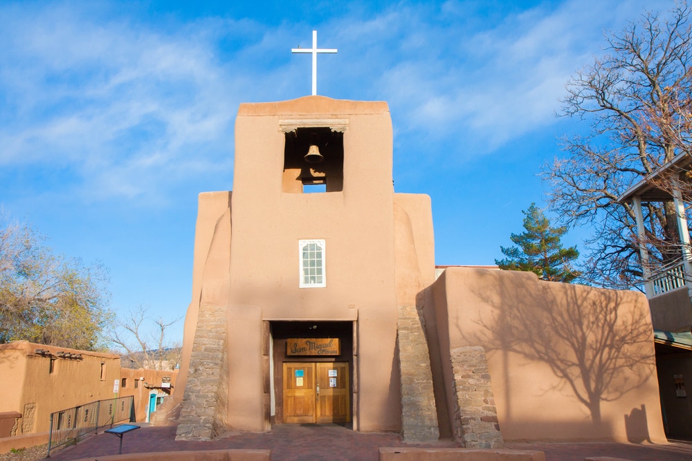
<instances>
[{"instance_id":1,"label":"small distant adobe building with turquoise doorway, left of the church","mask_svg":"<svg viewBox=\"0 0 692 461\"><path fill-rule=\"evenodd\" d=\"M163 377L170 378L170 388L161 388ZM164 397L164 402L165 399L172 398L169 396L175 391L177 377L178 370L120 368L120 391L118 397L133 395L136 421L145 422L147 420L149 395L155 393L160 397ZM123 382L123 380L125 381Z\"/></svg>"}]
</instances>

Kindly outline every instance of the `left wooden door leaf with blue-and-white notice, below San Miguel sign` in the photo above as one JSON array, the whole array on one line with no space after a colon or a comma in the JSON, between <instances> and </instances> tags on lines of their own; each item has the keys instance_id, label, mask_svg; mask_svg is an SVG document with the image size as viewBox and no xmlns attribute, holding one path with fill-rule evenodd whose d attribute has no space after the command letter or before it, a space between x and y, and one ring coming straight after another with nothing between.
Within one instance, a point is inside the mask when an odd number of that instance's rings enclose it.
<instances>
[{"instance_id":1,"label":"left wooden door leaf with blue-and-white notice, below San Miguel sign","mask_svg":"<svg viewBox=\"0 0 692 461\"><path fill-rule=\"evenodd\" d=\"M284 362L284 422L315 422L315 364Z\"/></svg>"}]
</instances>

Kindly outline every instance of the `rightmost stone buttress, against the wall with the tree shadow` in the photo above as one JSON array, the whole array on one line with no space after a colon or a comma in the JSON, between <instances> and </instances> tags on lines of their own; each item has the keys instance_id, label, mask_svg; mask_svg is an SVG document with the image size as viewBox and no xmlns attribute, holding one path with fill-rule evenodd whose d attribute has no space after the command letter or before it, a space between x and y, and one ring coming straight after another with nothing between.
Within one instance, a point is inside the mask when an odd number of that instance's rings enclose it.
<instances>
[{"instance_id":1,"label":"rightmost stone buttress, against the wall with the tree shadow","mask_svg":"<svg viewBox=\"0 0 692 461\"><path fill-rule=\"evenodd\" d=\"M481 346L450 351L454 372L454 435L466 448L503 448L488 361Z\"/></svg>"}]
</instances>

